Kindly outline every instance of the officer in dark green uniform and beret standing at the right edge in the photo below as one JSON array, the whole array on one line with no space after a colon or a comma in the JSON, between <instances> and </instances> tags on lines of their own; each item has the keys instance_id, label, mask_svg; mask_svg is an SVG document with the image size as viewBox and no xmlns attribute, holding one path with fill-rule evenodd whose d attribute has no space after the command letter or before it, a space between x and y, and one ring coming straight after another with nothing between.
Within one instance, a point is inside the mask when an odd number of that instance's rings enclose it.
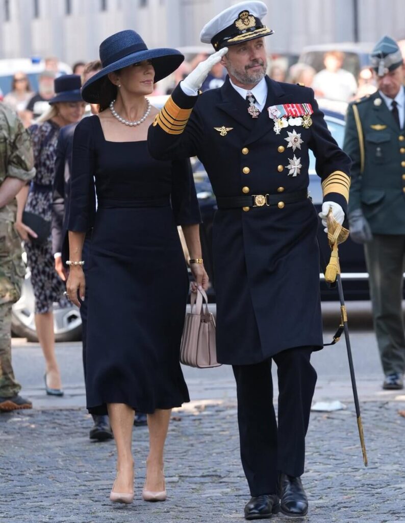
<instances>
[{"instance_id":1,"label":"officer in dark green uniform and beret standing at the right edge","mask_svg":"<svg viewBox=\"0 0 405 523\"><path fill-rule=\"evenodd\" d=\"M350 104L343 149L352 158L349 224L364 243L384 389L402 389L405 257L405 67L395 40L371 54L378 90Z\"/></svg>"}]
</instances>

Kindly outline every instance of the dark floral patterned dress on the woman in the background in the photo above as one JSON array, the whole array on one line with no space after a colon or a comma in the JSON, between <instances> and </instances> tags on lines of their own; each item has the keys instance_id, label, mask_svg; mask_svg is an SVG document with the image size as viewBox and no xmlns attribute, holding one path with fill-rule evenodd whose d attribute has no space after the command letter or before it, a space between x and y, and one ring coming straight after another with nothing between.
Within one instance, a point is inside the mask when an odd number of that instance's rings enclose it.
<instances>
[{"instance_id":1,"label":"dark floral patterned dress on the woman in the background","mask_svg":"<svg viewBox=\"0 0 405 523\"><path fill-rule=\"evenodd\" d=\"M25 210L39 214L49 222L52 219L53 179L59 129L51 120L34 124L28 129L37 172L31 182ZM63 298L65 285L55 271L51 236L41 245L25 242L25 249L28 267L31 270L35 312L44 314L51 311L54 302L66 306L68 301Z\"/></svg>"}]
</instances>

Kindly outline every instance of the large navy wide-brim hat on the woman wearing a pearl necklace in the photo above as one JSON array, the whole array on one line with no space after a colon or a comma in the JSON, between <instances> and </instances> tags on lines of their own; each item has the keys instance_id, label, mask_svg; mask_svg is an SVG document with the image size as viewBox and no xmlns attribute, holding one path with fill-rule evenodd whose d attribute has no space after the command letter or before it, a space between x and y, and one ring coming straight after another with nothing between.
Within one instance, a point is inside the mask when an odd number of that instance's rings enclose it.
<instances>
[{"instance_id":1,"label":"large navy wide-brim hat on the woman wearing a pearl necklace","mask_svg":"<svg viewBox=\"0 0 405 523\"><path fill-rule=\"evenodd\" d=\"M155 69L154 82L169 76L184 60L176 49L148 49L140 35L132 29L120 31L100 44L103 69L88 79L82 87L82 96L90 104L98 104L102 79L128 65L151 60Z\"/></svg>"}]
</instances>

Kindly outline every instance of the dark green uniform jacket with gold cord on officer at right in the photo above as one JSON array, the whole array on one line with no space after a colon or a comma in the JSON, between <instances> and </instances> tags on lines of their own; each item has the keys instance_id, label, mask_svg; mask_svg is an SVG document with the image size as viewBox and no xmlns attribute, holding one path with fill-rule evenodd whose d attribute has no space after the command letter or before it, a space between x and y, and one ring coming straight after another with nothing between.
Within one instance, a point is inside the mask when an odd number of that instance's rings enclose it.
<instances>
[{"instance_id":1,"label":"dark green uniform jacket with gold cord on officer at right","mask_svg":"<svg viewBox=\"0 0 405 523\"><path fill-rule=\"evenodd\" d=\"M374 234L405 234L405 130L378 92L349 105L343 150L353 161L349 214L361 208Z\"/></svg>"}]
</instances>

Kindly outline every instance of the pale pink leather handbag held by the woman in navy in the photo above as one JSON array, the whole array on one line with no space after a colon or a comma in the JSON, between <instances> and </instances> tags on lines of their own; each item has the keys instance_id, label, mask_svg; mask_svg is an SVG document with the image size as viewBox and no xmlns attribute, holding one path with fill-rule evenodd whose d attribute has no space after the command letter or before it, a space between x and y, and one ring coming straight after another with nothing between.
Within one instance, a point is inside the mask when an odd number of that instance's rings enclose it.
<instances>
[{"instance_id":1,"label":"pale pink leather handbag held by the woman in navy","mask_svg":"<svg viewBox=\"0 0 405 523\"><path fill-rule=\"evenodd\" d=\"M204 303L203 303L204 302ZM204 290L191 293L191 312L186 314L180 347L180 362L205 369L219 367L216 359L215 319L208 310Z\"/></svg>"}]
</instances>

